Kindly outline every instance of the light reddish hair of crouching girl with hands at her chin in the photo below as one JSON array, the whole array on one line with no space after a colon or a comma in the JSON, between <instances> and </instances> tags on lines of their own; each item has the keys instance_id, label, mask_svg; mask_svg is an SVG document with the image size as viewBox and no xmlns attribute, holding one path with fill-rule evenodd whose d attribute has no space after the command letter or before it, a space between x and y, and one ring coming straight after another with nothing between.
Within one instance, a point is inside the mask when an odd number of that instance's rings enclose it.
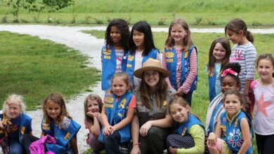
<instances>
[{"instance_id":1,"label":"light reddish hair of crouching girl with hands at her chin","mask_svg":"<svg viewBox=\"0 0 274 154\"><path fill-rule=\"evenodd\" d=\"M91 118L90 116L87 116L86 113L88 112L88 101L89 100L96 100L96 102L98 102L98 106L99 106L99 112L102 111L102 99L100 98L100 96L98 94L89 94L89 96L86 97L85 101L84 101L84 112L85 112L85 119L88 123L92 123L93 124L93 118Z\"/></svg>"}]
</instances>

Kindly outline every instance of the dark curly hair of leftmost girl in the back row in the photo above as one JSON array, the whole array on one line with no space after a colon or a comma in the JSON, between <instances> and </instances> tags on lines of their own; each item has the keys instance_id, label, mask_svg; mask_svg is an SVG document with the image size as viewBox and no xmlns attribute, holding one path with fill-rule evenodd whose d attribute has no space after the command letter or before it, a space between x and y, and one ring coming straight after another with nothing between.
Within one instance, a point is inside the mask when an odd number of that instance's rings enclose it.
<instances>
[{"instance_id":1,"label":"dark curly hair of leftmost girl in the back row","mask_svg":"<svg viewBox=\"0 0 274 154\"><path fill-rule=\"evenodd\" d=\"M121 45L124 51L129 50L129 25L127 22L122 19L115 19L107 25L107 29L105 30L105 46L108 49L109 45L112 45L112 39L110 38L110 29L112 26L115 26L119 29L121 34Z\"/></svg>"}]
</instances>

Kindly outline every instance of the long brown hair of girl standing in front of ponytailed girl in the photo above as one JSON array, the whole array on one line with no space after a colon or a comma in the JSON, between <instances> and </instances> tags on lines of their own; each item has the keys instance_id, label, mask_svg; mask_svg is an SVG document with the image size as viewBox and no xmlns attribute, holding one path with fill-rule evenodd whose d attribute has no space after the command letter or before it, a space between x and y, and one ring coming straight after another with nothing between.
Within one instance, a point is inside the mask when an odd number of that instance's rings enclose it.
<instances>
[{"instance_id":1,"label":"long brown hair of girl standing in front of ponytailed girl","mask_svg":"<svg viewBox=\"0 0 274 154\"><path fill-rule=\"evenodd\" d=\"M229 63L229 57L231 54L231 49L230 49L230 43L228 41L227 38L216 38L212 44L211 47L209 49L209 64L207 66L207 70L208 70L208 75L210 76L211 73L213 73L214 71L214 66L216 63L216 58L213 56L213 50L215 48L216 43L220 43L222 45L222 47L226 50L226 56L224 57L222 63L221 63L221 70L223 70L223 66L225 66L225 64Z\"/></svg>"}]
</instances>

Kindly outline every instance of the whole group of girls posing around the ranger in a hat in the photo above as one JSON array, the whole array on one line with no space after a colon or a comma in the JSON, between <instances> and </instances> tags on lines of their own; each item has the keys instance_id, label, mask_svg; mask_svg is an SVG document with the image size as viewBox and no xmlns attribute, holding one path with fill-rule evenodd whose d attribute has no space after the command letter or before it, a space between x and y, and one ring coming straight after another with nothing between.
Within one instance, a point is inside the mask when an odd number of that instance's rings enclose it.
<instances>
[{"instance_id":1,"label":"whole group of girls posing around the ranger in a hat","mask_svg":"<svg viewBox=\"0 0 274 154\"><path fill-rule=\"evenodd\" d=\"M84 102L86 141L93 153L103 149L105 153L163 153L166 148L167 153L204 153L206 135L210 153L252 153L249 91L255 98L258 151L273 151L273 56L259 56L260 78L254 80L256 50L245 23L232 20L225 31L235 45L232 52L226 38L211 45L207 65L211 103L204 127L190 107L197 87L197 48L188 24L181 19L171 22L161 62L147 22L137 22L129 32L124 20L112 20L101 51L105 97L90 94ZM76 136L81 126L67 113L60 94L50 94L43 102L39 140L32 136L31 118L24 109L19 95L4 102L0 114L4 153L44 153L44 149L78 153Z\"/></svg>"}]
</instances>

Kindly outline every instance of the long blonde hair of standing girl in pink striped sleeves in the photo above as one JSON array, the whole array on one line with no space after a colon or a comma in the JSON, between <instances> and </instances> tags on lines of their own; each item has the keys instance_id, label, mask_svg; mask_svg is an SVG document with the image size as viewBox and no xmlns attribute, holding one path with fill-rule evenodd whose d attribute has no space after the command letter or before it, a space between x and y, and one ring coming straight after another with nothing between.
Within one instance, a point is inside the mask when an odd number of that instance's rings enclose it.
<instances>
[{"instance_id":1,"label":"long blonde hair of standing girl in pink striped sleeves","mask_svg":"<svg viewBox=\"0 0 274 154\"><path fill-rule=\"evenodd\" d=\"M174 27L175 25L181 25L183 29L185 29L186 35L183 38L182 45L183 45L183 50L188 50L188 48L190 48L190 45L193 45L193 41L191 40L188 23L181 18L174 19L169 26L169 36L167 37L167 40L166 40L166 48L172 48L175 45L174 38L171 36L172 27Z\"/></svg>"}]
</instances>

